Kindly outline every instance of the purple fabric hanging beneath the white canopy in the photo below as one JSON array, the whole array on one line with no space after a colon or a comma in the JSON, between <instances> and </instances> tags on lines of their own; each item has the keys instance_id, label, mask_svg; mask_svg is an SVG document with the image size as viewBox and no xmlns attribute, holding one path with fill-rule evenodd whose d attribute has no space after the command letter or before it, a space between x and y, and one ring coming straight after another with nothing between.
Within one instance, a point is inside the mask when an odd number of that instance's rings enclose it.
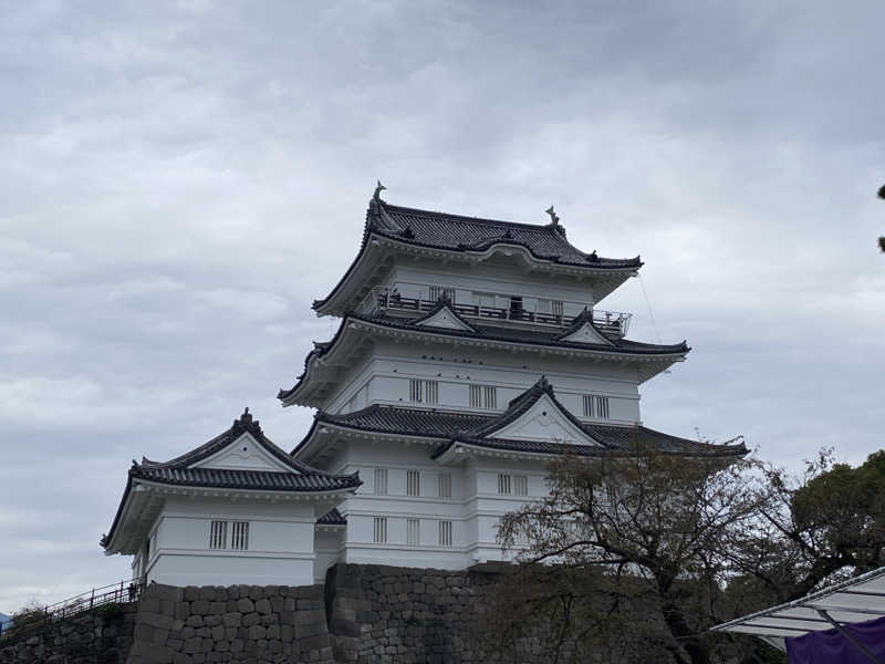
<instances>
[{"instance_id":1,"label":"purple fabric hanging beneath the white canopy","mask_svg":"<svg viewBox=\"0 0 885 664\"><path fill-rule=\"evenodd\" d=\"M842 629L885 664L885 618L848 623ZM784 641L790 664L870 664L870 657L835 629Z\"/></svg>"}]
</instances>

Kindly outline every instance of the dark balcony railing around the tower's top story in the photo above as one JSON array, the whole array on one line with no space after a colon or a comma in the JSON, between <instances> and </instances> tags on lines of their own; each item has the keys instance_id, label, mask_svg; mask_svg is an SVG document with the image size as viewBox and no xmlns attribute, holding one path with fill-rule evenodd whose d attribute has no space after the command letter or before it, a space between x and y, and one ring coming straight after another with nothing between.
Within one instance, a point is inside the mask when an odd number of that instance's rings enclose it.
<instances>
[{"instance_id":1,"label":"dark balcony railing around the tower's top story","mask_svg":"<svg viewBox=\"0 0 885 664\"><path fill-rule=\"evenodd\" d=\"M373 311L404 311L404 312L427 312L436 307L436 300L421 297L407 297L397 291L387 289L374 290L364 300L360 308L365 313ZM451 309L460 317L482 319L488 321L511 321L518 323L531 323L534 325L568 328L572 324L575 317L562 313L544 313L530 311L521 305L510 307L487 307L483 304L465 304L464 302L451 302ZM593 324L601 332L613 338L623 338L627 334L632 314L617 311L593 310Z\"/></svg>"}]
</instances>

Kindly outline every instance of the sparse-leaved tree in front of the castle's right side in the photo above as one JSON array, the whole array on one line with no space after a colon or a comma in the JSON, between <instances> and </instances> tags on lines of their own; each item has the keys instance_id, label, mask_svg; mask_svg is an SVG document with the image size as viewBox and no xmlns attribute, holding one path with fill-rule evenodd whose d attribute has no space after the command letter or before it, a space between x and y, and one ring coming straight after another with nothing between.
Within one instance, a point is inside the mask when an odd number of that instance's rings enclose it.
<instances>
[{"instance_id":1,"label":"sparse-leaved tree in front of the castle's right side","mask_svg":"<svg viewBox=\"0 0 885 664\"><path fill-rule=\"evenodd\" d=\"M575 588L593 606L585 613L604 609L622 626L653 629L674 662L711 662L707 630L723 614L721 589L736 568L731 548L759 529L771 499L762 465L637 446L614 458L559 459L550 485L548 498L501 525L504 546L528 542L519 553L522 573L549 574L539 563L554 563L558 573L583 579ZM590 621L573 637L592 643L600 624Z\"/></svg>"}]
</instances>

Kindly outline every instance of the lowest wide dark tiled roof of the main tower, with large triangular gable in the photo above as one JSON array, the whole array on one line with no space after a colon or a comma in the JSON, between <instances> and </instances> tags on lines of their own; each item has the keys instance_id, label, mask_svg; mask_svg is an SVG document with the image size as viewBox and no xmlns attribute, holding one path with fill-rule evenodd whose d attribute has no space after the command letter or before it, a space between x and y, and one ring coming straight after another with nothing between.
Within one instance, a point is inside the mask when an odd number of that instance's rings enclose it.
<instances>
[{"instance_id":1,"label":"lowest wide dark tiled roof of the main tower, with large triangular gable","mask_svg":"<svg viewBox=\"0 0 885 664\"><path fill-rule=\"evenodd\" d=\"M544 394L553 400L554 404L572 424L598 443L600 446L591 447L587 445L570 445L543 440L514 440L489 437L520 417ZM435 457L459 442L511 452L542 454L564 454L570 452L584 456L623 454L635 449L637 446L639 448L656 449L664 454L738 456L747 453L747 448L742 443L738 445L712 445L670 436L641 425L612 426L582 422L560 404L552 386L543 376L532 387L512 400L503 413L497 415L381 405L368 406L362 411L343 415L317 413L314 426L295 450L305 445L312 437L316 425L323 423L364 432L438 438L441 445L435 450Z\"/></svg>"}]
</instances>

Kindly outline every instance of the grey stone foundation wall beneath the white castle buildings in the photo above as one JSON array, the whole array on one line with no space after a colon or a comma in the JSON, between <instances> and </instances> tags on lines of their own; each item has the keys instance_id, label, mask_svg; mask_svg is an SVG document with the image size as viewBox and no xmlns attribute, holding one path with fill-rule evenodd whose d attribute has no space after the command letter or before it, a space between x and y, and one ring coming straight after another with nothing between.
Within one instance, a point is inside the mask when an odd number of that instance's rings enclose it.
<instances>
[{"instance_id":1,"label":"grey stone foundation wall beneath the white castle buildings","mask_svg":"<svg viewBox=\"0 0 885 664\"><path fill-rule=\"evenodd\" d=\"M84 614L6 649L0 640L0 664L545 664L543 625L507 654L483 634L498 579L337 564L325 587L152 584L116 615Z\"/></svg>"}]
</instances>

